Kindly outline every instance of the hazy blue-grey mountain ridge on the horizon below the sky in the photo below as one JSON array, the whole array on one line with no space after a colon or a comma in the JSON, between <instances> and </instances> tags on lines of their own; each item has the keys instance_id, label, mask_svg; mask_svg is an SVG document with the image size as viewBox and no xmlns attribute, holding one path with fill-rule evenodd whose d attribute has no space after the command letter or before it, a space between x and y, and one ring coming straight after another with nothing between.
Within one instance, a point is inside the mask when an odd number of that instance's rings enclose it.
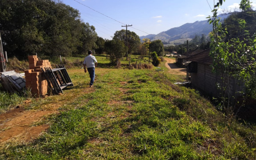
<instances>
[{"instance_id":1,"label":"hazy blue-grey mountain ridge on the horizon below the sky","mask_svg":"<svg viewBox=\"0 0 256 160\"><path fill-rule=\"evenodd\" d=\"M227 14L221 14L218 17L226 18ZM149 38L150 40L160 39L165 44L183 43L184 40L191 40L197 34L208 35L212 31L212 25L208 23L208 20L195 21L194 23L185 23L180 27L171 28L167 31L163 31L159 34L149 34L147 36L141 36L140 39Z\"/></svg>"}]
</instances>

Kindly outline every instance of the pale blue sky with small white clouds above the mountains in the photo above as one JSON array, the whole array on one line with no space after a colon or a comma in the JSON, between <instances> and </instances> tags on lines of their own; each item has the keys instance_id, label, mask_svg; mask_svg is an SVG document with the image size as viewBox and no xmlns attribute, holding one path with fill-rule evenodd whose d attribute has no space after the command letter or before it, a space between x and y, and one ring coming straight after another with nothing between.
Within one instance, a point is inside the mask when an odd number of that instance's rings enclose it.
<instances>
[{"instance_id":1,"label":"pale blue sky with small white clouds above the mountains","mask_svg":"<svg viewBox=\"0 0 256 160\"><path fill-rule=\"evenodd\" d=\"M95 27L99 37L112 39L126 29L138 36L158 34L185 23L207 20L214 0L61 0L81 13L81 20ZM217 0L215 0L217 2ZM241 0L223 1L222 10L239 8ZM256 0L250 0L256 6ZM219 10L219 13L223 11Z\"/></svg>"}]
</instances>

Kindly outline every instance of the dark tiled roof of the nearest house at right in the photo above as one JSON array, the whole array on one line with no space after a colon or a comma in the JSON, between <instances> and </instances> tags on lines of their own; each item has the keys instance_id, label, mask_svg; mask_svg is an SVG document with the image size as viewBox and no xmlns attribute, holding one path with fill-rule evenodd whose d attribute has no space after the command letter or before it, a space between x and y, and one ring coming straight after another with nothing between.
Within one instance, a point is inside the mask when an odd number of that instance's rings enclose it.
<instances>
[{"instance_id":1,"label":"dark tiled roof of the nearest house at right","mask_svg":"<svg viewBox=\"0 0 256 160\"><path fill-rule=\"evenodd\" d=\"M209 53L210 49L193 52L187 60L210 65L212 64L212 58L209 56Z\"/></svg>"}]
</instances>

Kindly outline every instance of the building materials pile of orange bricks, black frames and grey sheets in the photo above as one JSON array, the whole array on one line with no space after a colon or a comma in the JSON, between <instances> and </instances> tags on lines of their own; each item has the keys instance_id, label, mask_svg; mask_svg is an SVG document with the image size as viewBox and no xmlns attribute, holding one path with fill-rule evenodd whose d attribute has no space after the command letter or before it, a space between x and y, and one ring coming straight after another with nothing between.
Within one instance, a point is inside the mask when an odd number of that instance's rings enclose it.
<instances>
[{"instance_id":1,"label":"building materials pile of orange bricks, black frames and grey sheets","mask_svg":"<svg viewBox=\"0 0 256 160\"><path fill-rule=\"evenodd\" d=\"M73 86L64 65L52 69L49 60L38 60L37 56L28 56L29 69L25 78L15 71L1 72L3 88L8 92L29 90L33 95L44 96L47 92L63 93L62 89Z\"/></svg>"}]
</instances>

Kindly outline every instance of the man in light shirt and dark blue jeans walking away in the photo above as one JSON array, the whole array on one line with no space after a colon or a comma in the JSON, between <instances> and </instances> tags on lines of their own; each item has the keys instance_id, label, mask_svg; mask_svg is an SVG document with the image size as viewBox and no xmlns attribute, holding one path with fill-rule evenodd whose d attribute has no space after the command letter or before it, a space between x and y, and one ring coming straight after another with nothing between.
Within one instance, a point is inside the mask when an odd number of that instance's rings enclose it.
<instances>
[{"instance_id":1,"label":"man in light shirt and dark blue jeans walking away","mask_svg":"<svg viewBox=\"0 0 256 160\"><path fill-rule=\"evenodd\" d=\"M92 51L88 51L88 56L84 58L83 66L84 66L84 72L86 73L86 67L90 74L90 87L93 87L93 82L95 78L95 67L97 67L97 60L94 56L92 56Z\"/></svg>"}]
</instances>

